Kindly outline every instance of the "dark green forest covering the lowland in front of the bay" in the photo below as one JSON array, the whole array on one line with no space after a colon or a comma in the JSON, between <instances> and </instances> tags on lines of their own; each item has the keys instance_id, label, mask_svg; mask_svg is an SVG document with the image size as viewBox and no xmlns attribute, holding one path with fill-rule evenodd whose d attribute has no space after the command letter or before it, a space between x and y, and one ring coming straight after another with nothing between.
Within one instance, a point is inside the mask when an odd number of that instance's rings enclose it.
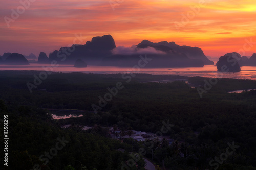
<instances>
[{"instance_id":1,"label":"dark green forest covering the lowland in front of the bay","mask_svg":"<svg viewBox=\"0 0 256 170\"><path fill-rule=\"evenodd\" d=\"M256 88L256 81L218 79L200 98L187 82L203 89L210 78L53 72L30 91L28 83L35 84L39 74L0 71L0 118L8 115L7 169L122 169L136 153L153 158L160 168L164 161L166 169L256 169L256 90L246 90ZM106 101L110 89L117 90ZM50 109L81 110L83 116L54 120ZM113 126L156 133L163 121L174 125L164 134L172 144L109 136ZM66 124L72 126L60 128ZM2 122L0 129L3 134ZM45 152L58 149L60 139L65 146L46 159ZM144 169L144 164L138 159L129 169Z\"/></svg>"}]
</instances>

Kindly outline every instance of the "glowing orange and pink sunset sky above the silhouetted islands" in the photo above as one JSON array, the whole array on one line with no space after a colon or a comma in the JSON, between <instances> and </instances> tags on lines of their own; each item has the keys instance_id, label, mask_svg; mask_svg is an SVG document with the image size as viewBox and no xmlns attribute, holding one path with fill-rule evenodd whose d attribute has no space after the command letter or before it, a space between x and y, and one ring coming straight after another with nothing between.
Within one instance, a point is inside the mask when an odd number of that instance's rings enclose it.
<instances>
[{"instance_id":1,"label":"glowing orange and pink sunset sky above the silhouetted islands","mask_svg":"<svg viewBox=\"0 0 256 170\"><path fill-rule=\"evenodd\" d=\"M256 53L255 0L0 0L0 55L36 56L95 36L202 48L206 56ZM18 15L17 15L18 14Z\"/></svg>"}]
</instances>

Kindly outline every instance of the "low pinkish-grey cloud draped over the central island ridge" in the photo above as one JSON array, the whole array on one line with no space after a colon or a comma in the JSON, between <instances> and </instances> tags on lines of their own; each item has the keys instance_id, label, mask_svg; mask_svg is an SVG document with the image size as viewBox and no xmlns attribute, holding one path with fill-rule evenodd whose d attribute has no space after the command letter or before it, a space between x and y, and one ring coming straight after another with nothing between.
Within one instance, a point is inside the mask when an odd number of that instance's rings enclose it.
<instances>
[{"instance_id":1,"label":"low pinkish-grey cloud draped over the central island ridge","mask_svg":"<svg viewBox=\"0 0 256 170\"><path fill-rule=\"evenodd\" d=\"M123 55L132 55L132 54L166 54L163 51L156 50L153 47L147 48L137 48L136 45L132 47L118 46L112 50L113 54L123 54Z\"/></svg>"}]
</instances>

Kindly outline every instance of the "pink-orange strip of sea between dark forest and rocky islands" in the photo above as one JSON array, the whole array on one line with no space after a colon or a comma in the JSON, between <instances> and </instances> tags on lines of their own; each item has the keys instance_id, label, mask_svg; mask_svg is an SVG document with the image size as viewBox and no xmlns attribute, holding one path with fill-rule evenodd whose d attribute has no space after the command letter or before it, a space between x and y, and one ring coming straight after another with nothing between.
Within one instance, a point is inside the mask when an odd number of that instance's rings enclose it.
<instances>
[{"instance_id":1,"label":"pink-orange strip of sea between dark forest and rocky islands","mask_svg":"<svg viewBox=\"0 0 256 170\"><path fill-rule=\"evenodd\" d=\"M44 71L44 67L51 67L50 64L31 63L30 65L0 65L0 70L36 70ZM52 68L52 67L51 67ZM88 66L87 68L75 68L73 65L59 65L52 68L55 72L85 72L85 73L124 73L131 72L131 68L108 67L108 66ZM243 66L241 72L222 73L218 72L215 65L205 65L204 67L187 67L187 68L141 68L140 73L153 75L181 75L181 76L201 76L201 77L218 77L218 78L235 78L235 79L252 79L256 80L256 67Z\"/></svg>"}]
</instances>

